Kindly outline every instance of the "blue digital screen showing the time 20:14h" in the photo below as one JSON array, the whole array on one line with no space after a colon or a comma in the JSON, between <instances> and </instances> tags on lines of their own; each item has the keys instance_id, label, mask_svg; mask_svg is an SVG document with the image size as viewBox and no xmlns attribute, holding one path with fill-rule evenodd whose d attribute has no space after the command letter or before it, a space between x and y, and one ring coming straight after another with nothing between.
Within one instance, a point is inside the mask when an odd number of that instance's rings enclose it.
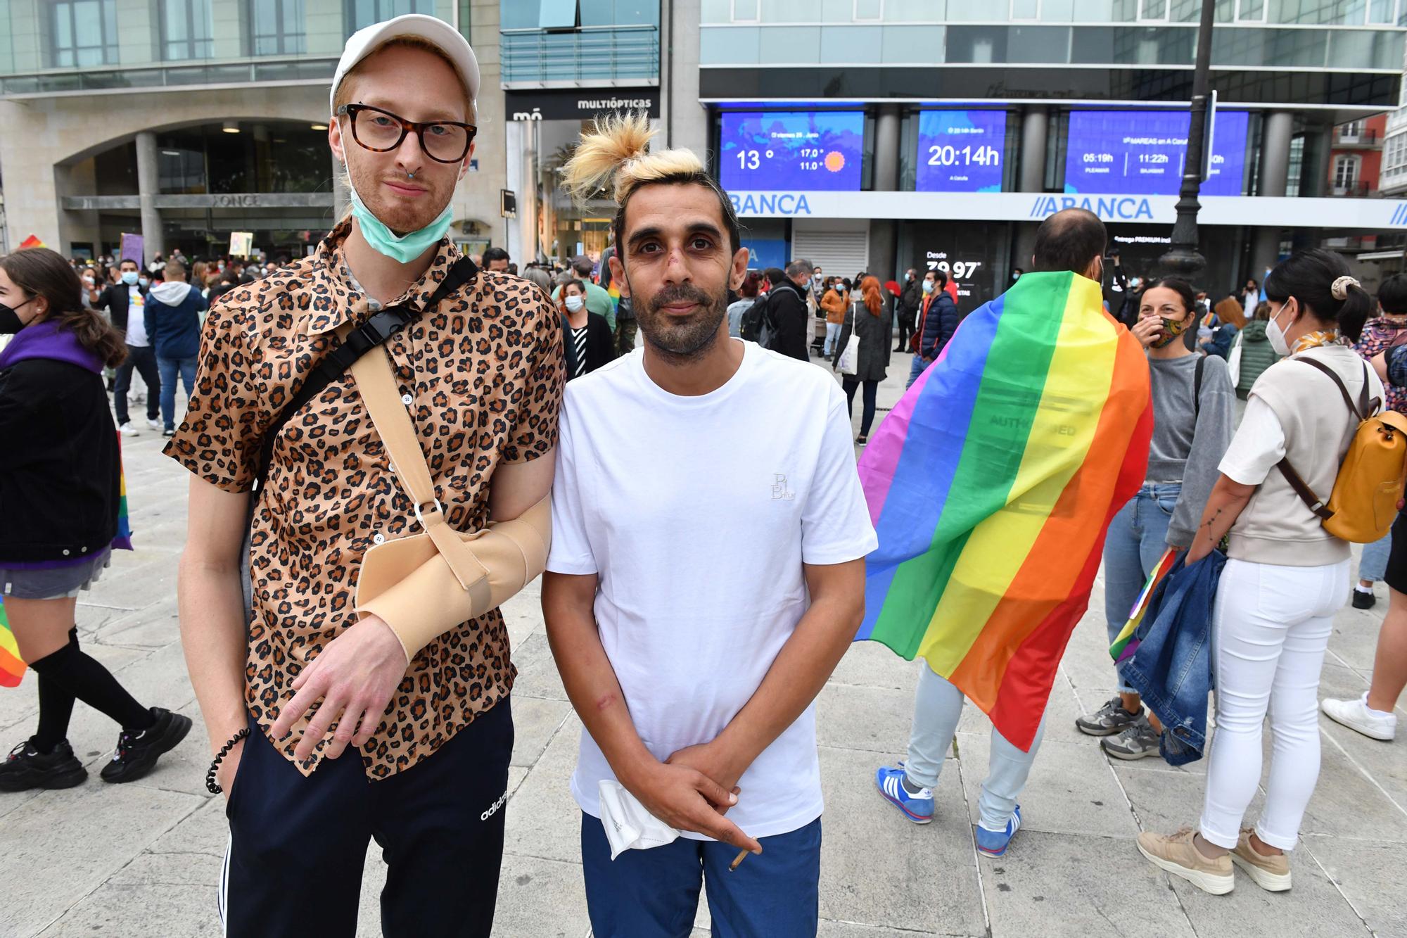
<instances>
[{"instance_id":1,"label":"blue digital screen showing the time 20:14h","mask_svg":"<svg viewBox=\"0 0 1407 938\"><path fill-rule=\"evenodd\" d=\"M1006 111L919 111L919 192L1002 192Z\"/></svg>"}]
</instances>

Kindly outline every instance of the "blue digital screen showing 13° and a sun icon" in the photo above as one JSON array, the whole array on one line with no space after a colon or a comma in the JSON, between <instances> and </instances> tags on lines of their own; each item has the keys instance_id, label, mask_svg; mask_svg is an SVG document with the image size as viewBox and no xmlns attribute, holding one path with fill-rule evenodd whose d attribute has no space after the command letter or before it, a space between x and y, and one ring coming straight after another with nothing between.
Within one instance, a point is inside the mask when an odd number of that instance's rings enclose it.
<instances>
[{"instance_id":1,"label":"blue digital screen showing 13\u00b0 and a sun icon","mask_svg":"<svg viewBox=\"0 0 1407 938\"><path fill-rule=\"evenodd\" d=\"M725 111L720 130L725 190L860 190L862 111Z\"/></svg>"}]
</instances>

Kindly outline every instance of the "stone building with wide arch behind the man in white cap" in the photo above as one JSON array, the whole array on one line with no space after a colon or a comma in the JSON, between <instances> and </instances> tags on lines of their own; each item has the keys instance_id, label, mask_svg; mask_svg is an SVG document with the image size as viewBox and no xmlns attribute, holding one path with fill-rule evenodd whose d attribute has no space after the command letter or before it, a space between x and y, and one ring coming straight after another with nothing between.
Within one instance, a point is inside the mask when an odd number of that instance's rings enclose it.
<instances>
[{"instance_id":1,"label":"stone building with wide arch behind the man in white cap","mask_svg":"<svg viewBox=\"0 0 1407 938\"><path fill-rule=\"evenodd\" d=\"M340 215L328 85L346 37L401 13L477 44L477 152L454 237L502 238L497 0L6 0L0 4L4 241L72 255L224 254L253 232L269 256L317 245Z\"/></svg>"}]
</instances>

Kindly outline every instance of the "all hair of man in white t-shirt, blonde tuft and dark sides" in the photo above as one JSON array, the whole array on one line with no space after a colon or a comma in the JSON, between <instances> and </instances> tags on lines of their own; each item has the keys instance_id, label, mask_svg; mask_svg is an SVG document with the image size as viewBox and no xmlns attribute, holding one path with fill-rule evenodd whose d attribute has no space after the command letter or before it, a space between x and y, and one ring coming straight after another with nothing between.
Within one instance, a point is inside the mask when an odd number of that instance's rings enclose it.
<instances>
[{"instance_id":1,"label":"all hair of man in white t-shirt, blonde tuft and dark sides","mask_svg":"<svg viewBox=\"0 0 1407 938\"><path fill-rule=\"evenodd\" d=\"M560 170L563 189L581 206L597 192L606 186L612 187L612 199L619 207L612 228L620 262L625 263L625 207L632 194L649 185L704 186L718 196L730 246L733 254L737 254L741 235L732 200L708 175L704 161L694 151L651 152L649 144L656 132L643 111L597 117L592 128L581 135L571 159Z\"/></svg>"}]
</instances>

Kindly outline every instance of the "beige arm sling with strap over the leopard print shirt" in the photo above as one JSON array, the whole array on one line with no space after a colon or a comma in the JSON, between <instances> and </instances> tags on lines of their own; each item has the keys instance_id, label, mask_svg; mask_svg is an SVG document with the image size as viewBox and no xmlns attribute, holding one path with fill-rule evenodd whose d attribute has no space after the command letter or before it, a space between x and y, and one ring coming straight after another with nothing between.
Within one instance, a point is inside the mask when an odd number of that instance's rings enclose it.
<instances>
[{"instance_id":1,"label":"beige arm sling with strap over the leopard print shirt","mask_svg":"<svg viewBox=\"0 0 1407 938\"><path fill-rule=\"evenodd\" d=\"M474 534L456 531L435 497L386 349L357 359L352 376L425 531L366 552L356 611L386 620L411 661L438 635L497 608L543 572L552 545L552 496L511 521L490 523Z\"/></svg>"}]
</instances>

